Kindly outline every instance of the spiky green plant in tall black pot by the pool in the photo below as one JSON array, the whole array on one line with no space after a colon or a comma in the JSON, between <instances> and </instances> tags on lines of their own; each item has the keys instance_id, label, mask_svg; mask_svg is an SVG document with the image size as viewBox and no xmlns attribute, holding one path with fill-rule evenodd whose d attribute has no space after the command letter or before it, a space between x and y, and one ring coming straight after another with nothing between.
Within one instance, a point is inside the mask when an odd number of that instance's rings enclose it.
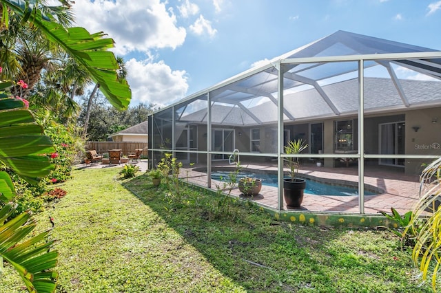
<instances>
[{"instance_id":1,"label":"spiky green plant in tall black pot by the pool","mask_svg":"<svg viewBox=\"0 0 441 293\"><path fill-rule=\"evenodd\" d=\"M298 140L290 140L284 147L287 155L295 155L307 149L308 145L300 138ZM302 204L303 193L306 188L305 180L296 177L300 163L296 157L285 158L285 163L289 168L289 177L283 179L283 197L287 207L298 208Z\"/></svg>"}]
</instances>

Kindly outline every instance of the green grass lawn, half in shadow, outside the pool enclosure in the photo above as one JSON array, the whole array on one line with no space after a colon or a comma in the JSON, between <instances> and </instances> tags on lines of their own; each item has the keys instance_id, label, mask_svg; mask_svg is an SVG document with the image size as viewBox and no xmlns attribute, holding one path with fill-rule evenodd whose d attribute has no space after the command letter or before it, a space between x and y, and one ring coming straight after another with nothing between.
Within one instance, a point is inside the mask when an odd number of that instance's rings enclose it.
<instances>
[{"instance_id":1,"label":"green grass lawn, half in shadow, outside the pool enclosure","mask_svg":"<svg viewBox=\"0 0 441 293\"><path fill-rule=\"evenodd\" d=\"M68 195L37 215L40 230L54 218L57 292L431 292L391 232L289 224L120 170L74 171ZM5 272L0 292L24 292Z\"/></svg>"}]
</instances>

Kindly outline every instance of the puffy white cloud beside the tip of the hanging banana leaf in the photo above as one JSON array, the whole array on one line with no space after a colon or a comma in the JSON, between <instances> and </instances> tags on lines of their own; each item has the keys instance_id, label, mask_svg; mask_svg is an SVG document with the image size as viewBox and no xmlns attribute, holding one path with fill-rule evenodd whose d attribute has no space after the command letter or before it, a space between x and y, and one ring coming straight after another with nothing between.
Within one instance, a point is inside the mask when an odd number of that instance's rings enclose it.
<instances>
[{"instance_id":1,"label":"puffy white cloud beside the tip of the hanging banana leaf","mask_svg":"<svg viewBox=\"0 0 441 293\"><path fill-rule=\"evenodd\" d=\"M132 89L131 104L154 103L160 107L170 105L187 94L188 84L185 70L172 70L164 61L126 62L127 81Z\"/></svg>"}]
</instances>

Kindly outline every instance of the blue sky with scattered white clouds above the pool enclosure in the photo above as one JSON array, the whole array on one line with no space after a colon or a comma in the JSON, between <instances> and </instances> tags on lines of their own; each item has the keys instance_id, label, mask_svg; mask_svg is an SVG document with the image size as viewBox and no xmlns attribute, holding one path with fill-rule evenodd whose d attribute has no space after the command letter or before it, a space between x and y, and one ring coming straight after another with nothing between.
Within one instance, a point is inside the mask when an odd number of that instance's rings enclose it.
<instances>
[{"instance_id":1,"label":"blue sky with scattered white clouds above the pool enclosure","mask_svg":"<svg viewBox=\"0 0 441 293\"><path fill-rule=\"evenodd\" d=\"M194 94L338 30L441 50L438 0L75 0L124 58L130 107Z\"/></svg>"}]
</instances>

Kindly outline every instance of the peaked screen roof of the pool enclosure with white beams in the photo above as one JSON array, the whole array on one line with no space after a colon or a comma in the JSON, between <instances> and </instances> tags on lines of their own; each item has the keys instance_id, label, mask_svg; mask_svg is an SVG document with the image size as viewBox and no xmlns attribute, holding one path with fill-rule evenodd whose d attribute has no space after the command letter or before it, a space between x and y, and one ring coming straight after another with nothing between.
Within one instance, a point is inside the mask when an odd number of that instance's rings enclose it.
<instances>
[{"instance_id":1,"label":"peaked screen roof of the pool enclosure with white beams","mask_svg":"<svg viewBox=\"0 0 441 293\"><path fill-rule=\"evenodd\" d=\"M338 31L163 108L154 118L170 121L172 108L175 122L206 121L209 96L213 123L276 122L279 85L284 120L357 113L360 85L365 111L441 106L441 52Z\"/></svg>"}]
</instances>

